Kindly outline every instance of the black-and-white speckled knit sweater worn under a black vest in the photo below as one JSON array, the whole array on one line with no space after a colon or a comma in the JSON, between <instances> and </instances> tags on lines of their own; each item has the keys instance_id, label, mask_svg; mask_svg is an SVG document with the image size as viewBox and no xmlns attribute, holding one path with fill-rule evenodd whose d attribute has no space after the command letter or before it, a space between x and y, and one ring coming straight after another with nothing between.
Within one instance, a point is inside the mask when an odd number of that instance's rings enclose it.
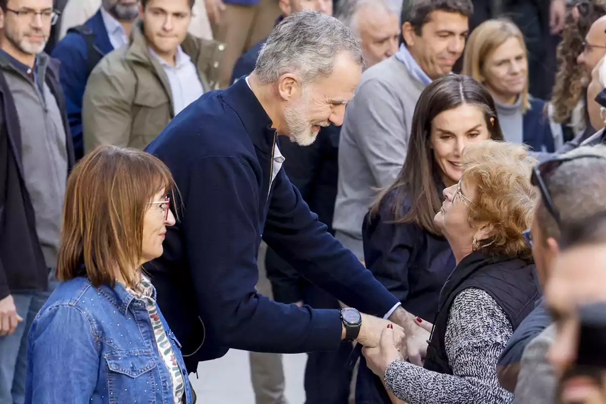
<instances>
[{"instance_id":1,"label":"black-and-white speckled knit sweater worn under a black vest","mask_svg":"<svg viewBox=\"0 0 606 404\"><path fill-rule=\"evenodd\" d=\"M446 326L453 375L395 360L385 371L385 385L408 404L509 404L513 394L499 385L496 363L511 334L511 323L490 295L464 290L454 299Z\"/></svg>"}]
</instances>

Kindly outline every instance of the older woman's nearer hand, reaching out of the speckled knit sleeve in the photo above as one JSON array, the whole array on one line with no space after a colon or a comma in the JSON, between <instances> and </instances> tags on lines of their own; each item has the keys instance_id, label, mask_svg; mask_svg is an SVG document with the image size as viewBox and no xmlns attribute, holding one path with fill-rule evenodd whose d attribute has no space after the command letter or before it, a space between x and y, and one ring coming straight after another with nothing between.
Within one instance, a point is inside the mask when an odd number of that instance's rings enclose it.
<instances>
[{"instance_id":1,"label":"older woman's nearer hand, reaching out of the speckled knit sleeve","mask_svg":"<svg viewBox=\"0 0 606 404\"><path fill-rule=\"evenodd\" d=\"M384 379L385 369L394 360L402 360L407 356L404 331L388 325L383 329L381 342L375 348L362 348L366 365L377 376Z\"/></svg>"}]
</instances>

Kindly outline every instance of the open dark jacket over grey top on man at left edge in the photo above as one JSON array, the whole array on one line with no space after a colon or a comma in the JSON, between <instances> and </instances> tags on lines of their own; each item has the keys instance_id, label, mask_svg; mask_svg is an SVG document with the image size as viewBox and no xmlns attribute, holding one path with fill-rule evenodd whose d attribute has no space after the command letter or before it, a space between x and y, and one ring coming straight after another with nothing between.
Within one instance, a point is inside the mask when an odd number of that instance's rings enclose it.
<instances>
[{"instance_id":1,"label":"open dark jacket over grey top on man at left edge","mask_svg":"<svg viewBox=\"0 0 606 404\"><path fill-rule=\"evenodd\" d=\"M74 164L72 136L58 71L58 62L51 59L45 82L62 113L68 170L71 170ZM7 81L0 71L0 299L15 291L46 290L47 287L48 268L23 178L19 118Z\"/></svg>"}]
</instances>

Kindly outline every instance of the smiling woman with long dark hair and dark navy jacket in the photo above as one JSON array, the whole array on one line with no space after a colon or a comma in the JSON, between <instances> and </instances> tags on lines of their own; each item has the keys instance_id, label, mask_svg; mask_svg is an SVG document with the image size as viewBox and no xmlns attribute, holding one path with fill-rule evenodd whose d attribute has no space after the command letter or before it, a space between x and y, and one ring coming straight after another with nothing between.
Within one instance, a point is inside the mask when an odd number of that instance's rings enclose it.
<instances>
[{"instance_id":1,"label":"smiling woman with long dark hair and dark navy jacket","mask_svg":"<svg viewBox=\"0 0 606 404\"><path fill-rule=\"evenodd\" d=\"M490 93L467 76L432 82L416 104L404 167L364 220L367 268L415 316L433 318L455 265L433 222L442 191L461 179L464 148L487 139L503 139ZM381 402L390 398L362 359L356 403Z\"/></svg>"}]
</instances>

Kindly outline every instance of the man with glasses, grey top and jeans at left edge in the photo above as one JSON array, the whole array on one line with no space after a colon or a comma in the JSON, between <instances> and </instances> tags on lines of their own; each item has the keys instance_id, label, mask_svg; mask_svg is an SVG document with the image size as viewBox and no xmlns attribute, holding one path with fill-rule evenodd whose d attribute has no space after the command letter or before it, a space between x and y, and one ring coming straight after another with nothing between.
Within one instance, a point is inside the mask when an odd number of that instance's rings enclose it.
<instances>
[{"instance_id":1,"label":"man with glasses, grey top and jeans at left edge","mask_svg":"<svg viewBox=\"0 0 606 404\"><path fill-rule=\"evenodd\" d=\"M44 53L53 0L0 0L0 403L22 403L25 343L52 289L73 165L58 65Z\"/></svg>"}]
</instances>

